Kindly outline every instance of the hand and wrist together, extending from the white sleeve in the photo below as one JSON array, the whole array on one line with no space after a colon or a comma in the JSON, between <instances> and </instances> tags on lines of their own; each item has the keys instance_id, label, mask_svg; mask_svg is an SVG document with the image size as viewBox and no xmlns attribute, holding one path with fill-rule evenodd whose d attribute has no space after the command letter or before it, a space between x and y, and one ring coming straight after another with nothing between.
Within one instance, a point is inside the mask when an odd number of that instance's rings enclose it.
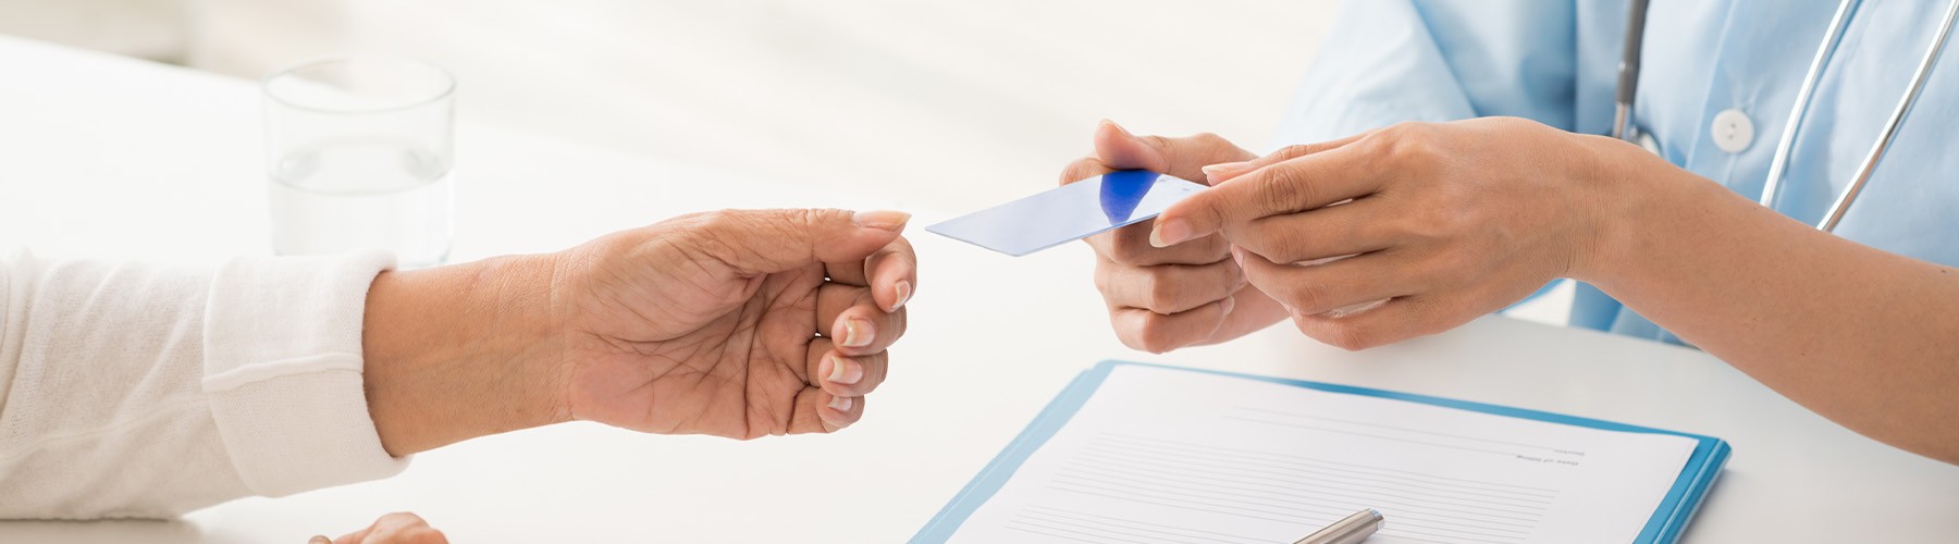
<instances>
[{"instance_id":1,"label":"hand and wrist together, extending from the white sleeve","mask_svg":"<svg viewBox=\"0 0 1959 544\"><path fill-rule=\"evenodd\" d=\"M597 421L758 438L864 415L905 335L897 211L713 211L535 256L384 272L368 409L390 454Z\"/></svg>"}]
</instances>

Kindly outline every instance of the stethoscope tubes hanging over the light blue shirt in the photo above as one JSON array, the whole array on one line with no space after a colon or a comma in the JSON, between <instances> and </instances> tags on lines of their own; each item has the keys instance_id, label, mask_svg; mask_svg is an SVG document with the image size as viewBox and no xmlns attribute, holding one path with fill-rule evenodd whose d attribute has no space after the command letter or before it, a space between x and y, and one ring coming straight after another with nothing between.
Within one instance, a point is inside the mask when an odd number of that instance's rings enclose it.
<instances>
[{"instance_id":1,"label":"stethoscope tubes hanging over the light blue shirt","mask_svg":"<svg viewBox=\"0 0 1959 544\"><path fill-rule=\"evenodd\" d=\"M1783 178L1789 172L1789 157L1794 153L1796 131L1802 129L1802 117L1808 113L1810 98L1816 96L1816 84L1822 80L1824 68L1830 59L1836 57L1838 45L1843 41L1843 33L1849 27L1849 20L1855 16L1861 0L1843 0L1838 4L1838 12L1830 18L1830 29L1824 33L1824 43L1816 47L1816 57L1810 61L1808 74L1802 76L1802 86L1796 90L1796 102L1789 110L1789 123L1783 127L1783 137L1775 145L1775 155L1769 160L1769 178L1761 186L1761 205L1773 209L1775 200L1781 194ZM1612 137L1632 141L1636 129L1632 127L1632 100L1638 90L1640 78L1640 47L1646 33L1646 0L1632 0L1632 12L1626 18L1626 51L1618 65L1618 96L1614 96L1614 119ZM1926 78L1932 74L1932 67L1937 65L1939 55L1945 51L1945 41L1951 35L1953 22L1959 20L1959 0L1945 6L1945 20L1939 23L1937 37L1926 47L1926 55L1918 63L1918 70L1912 74L1912 84L1898 98L1898 106L1885 119L1885 131L1879 135L1877 143L1871 145L1871 153L1865 155L1863 162L1857 166L1857 176L1851 178L1843 194L1838 196L1836 204L1830 205L1830 213L1816 223L1816 229L1826 233L1836 231L1838 223L1843 221L1843 213L1849 211L1851 202L1863 194L1865 184L1871 182L1871 174L1877 172L1877 162L1885 159L1890 151L1890 141L1898 137L1898 127L1904 125L1904 117L1910 115L1912 104L1918 102L1918 94L1926 88Z\"/></svg>"}]
</instances>

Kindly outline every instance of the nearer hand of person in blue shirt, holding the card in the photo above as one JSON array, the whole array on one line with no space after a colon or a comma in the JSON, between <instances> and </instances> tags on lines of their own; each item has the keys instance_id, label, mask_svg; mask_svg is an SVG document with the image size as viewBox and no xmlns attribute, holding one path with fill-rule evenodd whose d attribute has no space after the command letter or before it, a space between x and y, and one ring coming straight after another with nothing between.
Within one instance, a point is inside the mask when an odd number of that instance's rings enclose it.
<instances>
[{"instance_id":1,"label":"nearer hand of person in blue shirt, holding the card","mask_svg":"<svg viewBox=\"0 0 1959 544\"><path fill-rule=\"evenodd\" d=\"M1602 215L1589 184L1597 145L1514 117L1295 145L1211 168L1217 188L1170 205L1154 239L1222 231L1299 331L1379 346L1454 329L1585 266ZM1336 311L1371 301L1383 303Z\"/></svg>"}]
</instances>

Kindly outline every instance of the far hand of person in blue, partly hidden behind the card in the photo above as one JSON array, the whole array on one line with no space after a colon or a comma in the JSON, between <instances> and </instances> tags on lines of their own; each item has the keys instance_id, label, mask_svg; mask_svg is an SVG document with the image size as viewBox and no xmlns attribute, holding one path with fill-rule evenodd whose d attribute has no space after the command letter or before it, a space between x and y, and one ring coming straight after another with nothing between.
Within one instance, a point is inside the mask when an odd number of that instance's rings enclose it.
<instances>
[{"instance_id":1,"label":"far hand of person in blue, partly hidden behind the card","mask_svg":"<svg viewBox=\"0 0 1959 544\"><path fill-rule=\"evenodd\" d=\"M1068 164L1062 184L1130 168L1205 182L1205 164L1254 157L1209 133L1136 137L1103 121L1095 127L1095 155ZM1109 323L1123 344L1146 352L1215 344L1285 317L1271 297L1246 288L1222 237L1193 237L1160 249L1148 241L1150 225L1144 221L1087 239L1097 260L1095 288L1109 301Z\"/></svg>"}]
</instances>

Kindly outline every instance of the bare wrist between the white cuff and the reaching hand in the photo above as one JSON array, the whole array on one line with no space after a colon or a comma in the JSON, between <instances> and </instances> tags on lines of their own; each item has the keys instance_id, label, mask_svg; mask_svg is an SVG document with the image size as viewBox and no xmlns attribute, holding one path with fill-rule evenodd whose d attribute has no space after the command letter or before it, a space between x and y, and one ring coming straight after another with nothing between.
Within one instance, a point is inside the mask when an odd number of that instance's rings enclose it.
<instances>
[{"instance_id":1,"label":"bare wrist between the white cuff and the reaching hand","mask_svg":"<svg viewBox=\"0 0 1959 544\"><path fill-rule=\"evenodd\" d=\"M539 254L374 278L364 389L390 454L568 419L552 274Z\"/></svg>"}]
</instances>

